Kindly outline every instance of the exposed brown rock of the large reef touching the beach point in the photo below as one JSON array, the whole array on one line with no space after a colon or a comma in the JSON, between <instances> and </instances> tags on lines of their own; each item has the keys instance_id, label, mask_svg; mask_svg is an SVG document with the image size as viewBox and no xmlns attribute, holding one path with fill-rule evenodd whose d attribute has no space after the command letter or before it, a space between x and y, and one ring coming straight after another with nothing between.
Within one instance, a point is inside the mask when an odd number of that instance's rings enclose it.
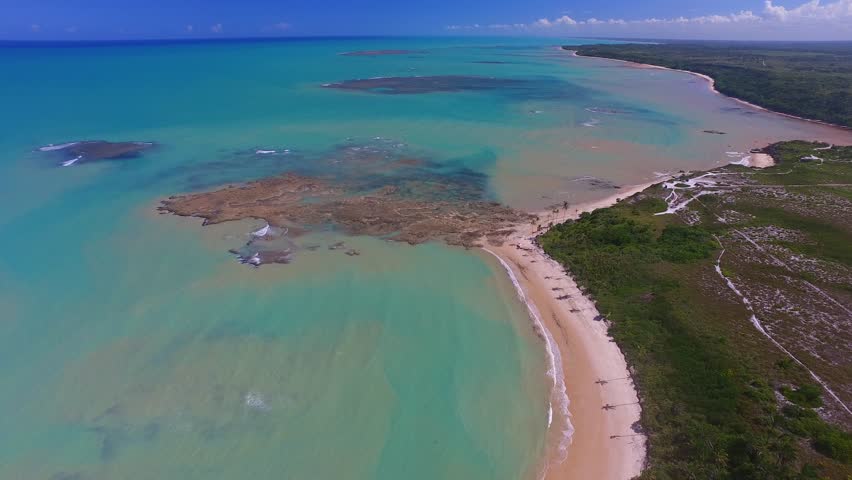
<instances>
[{"instance_id":1,"label":"exposed brown rock of the large reef touching the beach point","mask_svg":"<svg viewBox=\"0 0 852 480\"><path fill-rule=\"evenodd\" d=\"M535 217L496 202L408 198L395 186L350 195L318 178L285 174L220 190L170 197L160 210L200 217L204 224L262 218L273 228L331 224L353 235L418 244L442 240L472 247L500 243L520 222ZM342 248L342 245L341 245ZM264 259L248 263L263 263Z\"/></svg>"}]
</instances>

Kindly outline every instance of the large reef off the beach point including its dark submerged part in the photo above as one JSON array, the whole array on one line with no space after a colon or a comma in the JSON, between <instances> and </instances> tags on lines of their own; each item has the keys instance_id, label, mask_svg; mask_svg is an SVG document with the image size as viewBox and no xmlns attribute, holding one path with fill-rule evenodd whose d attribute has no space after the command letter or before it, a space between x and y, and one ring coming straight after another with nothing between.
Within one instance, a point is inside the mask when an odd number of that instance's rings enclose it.
<instances>
[{"instance_id":1,"label":"large reef off the beach point including its dark submerged part","mask_svg":"<svg viewBox=\"0 0 852 480\"><path fill-rule=\"evenodd\" d=\"M246 155L251 155L253 167L257 159L274 157L242 152L234 165L244 164ZM276 169L269 176L173 196L159 210L203 218L205 225L263 220L265 224L246 232L244 245L231 250L253 266L289 263L300 252L318 250L320 245L296 239L329 228L410 244L437 240L469 247L500 244L518 223L535 219L489 201L487 176L467 165L489 161L487 152L439 161L403 143L374 137L347 139L319 154L297 152L279 158L269 164ZM210 173L219 178L230 164L217 164ZM200 185L207 190L207 183ZM223 184L227 181L218 182ZM361 254L343 242L328 249L350 257Z\"/></svg>"}]
</instances>

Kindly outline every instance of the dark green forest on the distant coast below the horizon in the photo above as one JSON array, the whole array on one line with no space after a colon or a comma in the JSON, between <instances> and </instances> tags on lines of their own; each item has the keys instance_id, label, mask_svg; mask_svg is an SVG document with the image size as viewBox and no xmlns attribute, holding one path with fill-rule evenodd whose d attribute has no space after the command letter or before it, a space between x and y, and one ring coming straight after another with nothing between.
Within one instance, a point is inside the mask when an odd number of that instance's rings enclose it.
<instances>
[{"instance_id":1,"label":"dark green forest on the distant coast below the horizon","mask_svg":"<svg viewBox=\"0 0 852 480\"><path fill-rule=\"evenodd\" d=\"M852 43L667 42L565 46L579 55L709 75L732 97L852 126Z\"/></svg>"}]
</instances>

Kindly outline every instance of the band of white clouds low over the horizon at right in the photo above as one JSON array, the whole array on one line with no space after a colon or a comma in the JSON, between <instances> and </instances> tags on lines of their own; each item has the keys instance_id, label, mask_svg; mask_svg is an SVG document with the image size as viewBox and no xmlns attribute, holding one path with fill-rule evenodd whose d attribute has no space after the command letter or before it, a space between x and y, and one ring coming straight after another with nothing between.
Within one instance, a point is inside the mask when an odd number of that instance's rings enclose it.
<instances>
[{"instance_id":1,"label":"band of white clouds low over the horizon at right","mask_svg":"<svg viewBox=\"0 0 852 480\"><path fill-rule=\"evenodd\" d=\"M671 38L777 38L777 39L849 39L852 38L852 0L808 0L792 8L765 0L759 13L742 10L729 14L695 17L575 20L568 15L540 18L531 23L452 25L448 30L535 29L553 35L594 33L598 35L645 35Z\"/></svg>"}]
</instances>

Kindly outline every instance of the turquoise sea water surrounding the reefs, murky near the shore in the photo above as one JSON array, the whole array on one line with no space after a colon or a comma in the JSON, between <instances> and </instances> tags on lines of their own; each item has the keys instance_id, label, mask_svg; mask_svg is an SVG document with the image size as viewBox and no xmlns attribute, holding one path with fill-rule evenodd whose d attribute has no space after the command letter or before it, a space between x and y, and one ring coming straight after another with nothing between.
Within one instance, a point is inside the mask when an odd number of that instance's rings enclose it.
<instances>
[{"instance_id":1,"label":"turquoise sea water surrounding the reefs, murky near the shore","mask_svg":"<svg viewBox=\"0 0 852 480\"><path fill-rule=\"evenodd\" d=\"M227 250L262 221L201 228L155 208L282 171L344 175L341 152L366 146L536 209L607 193L586 176L634 183L771 139L844 135L552 42L0 47L0 477L535 474L546 359L493 259L316 231L295 241L320 249L253 269ZM422 52L339 55L387 48ZM321 87L413 75L531 88ZM91 139L158 147L69 168L35 151ZM325 248L341 240L361 255Z\"/></svg>"}]
</instances>

